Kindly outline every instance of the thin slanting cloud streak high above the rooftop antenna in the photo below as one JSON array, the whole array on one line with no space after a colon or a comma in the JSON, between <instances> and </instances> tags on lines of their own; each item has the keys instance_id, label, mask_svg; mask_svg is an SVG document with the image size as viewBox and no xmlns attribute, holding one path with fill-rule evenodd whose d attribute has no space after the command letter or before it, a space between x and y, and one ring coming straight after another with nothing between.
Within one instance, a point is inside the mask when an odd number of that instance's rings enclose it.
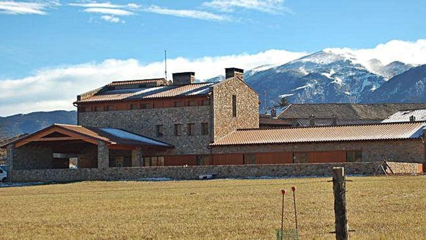
<instances>
[{"instance_id":1,"label":"thin slanting cloud streak high above the rooftop antenna","mask_svg":"<svg viewBox=\"0 0 426 240\"><path fill-rule=\"evenodd\" d=\"M206 11L198 11L198 10L184 10L184 9L168 9L159 7L156 5L151 5L150 7L144 8L143 11L151 12L156 14L164 14L171 16L179 16L179 17L190 17L211 21L229 21L230 17L224 15L217 15L213 13L209 13Z\"/></svg>"}]
</instances>

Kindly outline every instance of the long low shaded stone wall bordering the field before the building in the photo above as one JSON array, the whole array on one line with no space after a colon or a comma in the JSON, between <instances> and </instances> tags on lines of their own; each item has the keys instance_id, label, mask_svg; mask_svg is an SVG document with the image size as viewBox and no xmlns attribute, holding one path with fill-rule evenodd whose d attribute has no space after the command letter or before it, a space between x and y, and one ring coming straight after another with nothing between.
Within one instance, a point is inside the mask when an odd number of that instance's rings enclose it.
<instances>
[{"instance_id":1,"label":"long low shaded stone wall bordering the field before the building","mask_svg":"<svg viewBox=\"0 0 426 240\"><path fill-rule=\"evenodd\" d=\"M377 162L300 163L265 165L222 165L188 167L125 167L87 169L14 170L11 181L81 181L143 178L198 179L199 175L216 173L218 178L330 176L333 167L345 167L347 175L373 175Z\"/></svg>"}]
</instances>

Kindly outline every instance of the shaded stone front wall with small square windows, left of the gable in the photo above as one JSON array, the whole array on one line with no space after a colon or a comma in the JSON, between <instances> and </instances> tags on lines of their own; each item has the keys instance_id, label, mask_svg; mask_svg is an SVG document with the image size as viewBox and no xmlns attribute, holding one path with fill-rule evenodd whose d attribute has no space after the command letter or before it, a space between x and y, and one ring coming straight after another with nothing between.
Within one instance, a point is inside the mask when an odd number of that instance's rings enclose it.
<instances>
[{"instance_id":1,"label":"shaded stone front wall with small square windows, left of the gable","mask_svg":"<svg viewBox=\"0 0 426 240\"><path fill-rule=\"evenodd\" d=\"M201 135L201 123L211 125L211 106L158 108L111 112L79 112L78 124L104 128L122 128L175 146L168 154L209 154L210 135ZM188 123L195 134L187 135ZM174 124L182 124L182 135L175 136ZM156 135L163 125L163 136Z\"/></svg>"}]
</instances>

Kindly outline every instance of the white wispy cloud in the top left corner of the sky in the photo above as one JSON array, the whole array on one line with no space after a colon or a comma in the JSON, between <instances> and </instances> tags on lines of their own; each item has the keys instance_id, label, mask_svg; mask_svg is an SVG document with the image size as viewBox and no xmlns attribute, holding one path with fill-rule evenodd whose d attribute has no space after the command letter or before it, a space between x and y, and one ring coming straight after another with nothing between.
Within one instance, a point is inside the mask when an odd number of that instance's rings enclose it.
<instances>
[{"instance_id":1,"label":"white wispy cloud in the top left corner of the sky","mask_svg":"<svg viewBox=\"0 0 426 240\"><path fill-rule=\"evenodd\" d=\"M57 0L46 1L0 1L0 14L12 15L47 15L48 8L59 6Z\"/></svg>"}]
</instances>

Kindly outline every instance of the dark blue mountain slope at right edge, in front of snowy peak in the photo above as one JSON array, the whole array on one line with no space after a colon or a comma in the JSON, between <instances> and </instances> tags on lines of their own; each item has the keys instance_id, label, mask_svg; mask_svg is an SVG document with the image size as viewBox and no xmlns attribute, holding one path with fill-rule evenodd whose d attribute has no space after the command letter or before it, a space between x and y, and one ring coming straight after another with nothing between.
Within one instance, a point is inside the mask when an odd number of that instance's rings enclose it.
<instances>
[{"instance_id":1,"label":"dark blue mountain slope at right edge, in front of snowy peak","mask_svg":"<svg viewBox=\"0 0 426 240\"><path fill-rule=\"evenodd\" d=\"M426 65L396 75L364 96L362 102L426 102Z\"/></svg>"}]
</instances>

